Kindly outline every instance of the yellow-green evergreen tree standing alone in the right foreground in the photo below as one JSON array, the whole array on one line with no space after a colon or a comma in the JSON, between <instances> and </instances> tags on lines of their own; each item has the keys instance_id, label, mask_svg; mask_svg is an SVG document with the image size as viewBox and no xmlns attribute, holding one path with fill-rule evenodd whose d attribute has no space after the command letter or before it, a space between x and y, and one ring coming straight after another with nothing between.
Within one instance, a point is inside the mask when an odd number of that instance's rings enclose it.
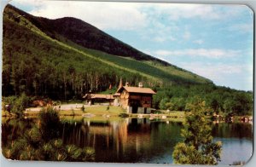
<instances>
[{"instance_id":1,"label":"yellow-green evergreen tree standing alone in the right foreground","mask_svg":"<svg viewBox=\"0 0 256 167\"><path fill-rule=\"evenodd\" d=\"M211 127L205 116L205 101L195 98L189 105L181 135L172 157L176 164L218 164L222 144L212 142Z\"/></svg>"}]
</instances>

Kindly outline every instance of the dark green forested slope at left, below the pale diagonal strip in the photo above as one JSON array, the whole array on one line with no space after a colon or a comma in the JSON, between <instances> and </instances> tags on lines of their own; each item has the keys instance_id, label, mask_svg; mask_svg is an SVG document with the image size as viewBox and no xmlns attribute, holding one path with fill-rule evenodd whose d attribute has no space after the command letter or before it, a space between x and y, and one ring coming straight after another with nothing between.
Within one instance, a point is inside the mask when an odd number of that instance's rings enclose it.
<instances>
[{"instance_id":1,"label":"dark green forested slope at left, below the pale diagonal strip","mask_svg":"<svg viewBox=\"0 0 256 167\"><path fill-rule=\"evenodd\" d=\"M3 18L3 95L26 90L63 99L73 92L107 89L119 76L134 82L143 78L44 36L29 24L21 25Z\"/></svg>"}]
</instances>

